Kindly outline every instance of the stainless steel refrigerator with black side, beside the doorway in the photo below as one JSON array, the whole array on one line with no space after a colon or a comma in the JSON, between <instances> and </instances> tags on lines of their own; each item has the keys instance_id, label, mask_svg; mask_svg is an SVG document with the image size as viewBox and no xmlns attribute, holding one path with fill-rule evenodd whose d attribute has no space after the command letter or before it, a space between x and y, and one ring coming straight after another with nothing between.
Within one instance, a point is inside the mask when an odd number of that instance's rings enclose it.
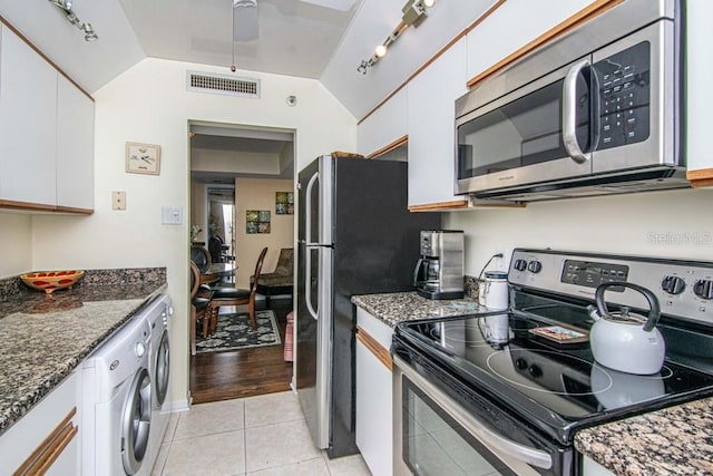
<instances>
[{"instance_id":1,"label":"stainless steel refrigerator with black side, beside the doorway","mask_svg":"<svg viewBox=\"0 0 713 476\"><path fill-rule=\"evenodd\" d=\"M351 297L412 291L419 232L440 227L408 211L407 167L324 155L299 175L296 388L332 458L359 451Z\"/></svg>"}]
</instances>

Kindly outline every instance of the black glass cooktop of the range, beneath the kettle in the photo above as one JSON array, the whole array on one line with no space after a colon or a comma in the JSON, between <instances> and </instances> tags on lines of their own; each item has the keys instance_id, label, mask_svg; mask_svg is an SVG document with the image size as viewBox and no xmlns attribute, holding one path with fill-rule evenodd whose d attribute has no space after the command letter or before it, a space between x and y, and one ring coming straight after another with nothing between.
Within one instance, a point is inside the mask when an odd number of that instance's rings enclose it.
<instances>
[{"instance_id":1,"label":"black glass cooktop of the range, beneath the kettle","mask_svg":"<svg viewBox=\"0 0 713 476\"><path fill-rule=\"evenodd\" d=\"M586 336L586 313L567 312L567 326ZM713 395L713 376L670 360L651 376L607 369L593 359L586 337L559 343L537 333L550 326L547 317L524 313L408 321L397 327L394 351L412 346L466 388L565 444L584 426Z\"/></svg>"}]
</instances>

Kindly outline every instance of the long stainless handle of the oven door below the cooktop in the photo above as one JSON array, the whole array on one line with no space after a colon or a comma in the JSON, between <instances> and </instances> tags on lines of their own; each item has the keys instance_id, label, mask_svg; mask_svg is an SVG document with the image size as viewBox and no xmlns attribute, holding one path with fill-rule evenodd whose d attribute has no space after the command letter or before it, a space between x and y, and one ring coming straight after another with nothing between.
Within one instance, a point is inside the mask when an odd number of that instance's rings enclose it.
<instances>
[{"instance_id":1,"label":"long stainless handle of the oven door below the cooktop","mask_svg":"<svg viewBox=\"0 0 713 476\"><path fill-rule=\"evenodd\" d=\"M511 439L505 438L490 429L479 418L458 405L453 399L448 397L441 390L436 388L431 382L421 377L408 363L398 356L393 356L393 363L406 375L419 389L421 389L430 399L439 407L446 410L456 421L458 421L468 433L476 437L480 443L498 453L511 456L531 466L543 469L549 469L553 466L551 456L543 450L521 445Z\"/></svg>"}]
</instances>

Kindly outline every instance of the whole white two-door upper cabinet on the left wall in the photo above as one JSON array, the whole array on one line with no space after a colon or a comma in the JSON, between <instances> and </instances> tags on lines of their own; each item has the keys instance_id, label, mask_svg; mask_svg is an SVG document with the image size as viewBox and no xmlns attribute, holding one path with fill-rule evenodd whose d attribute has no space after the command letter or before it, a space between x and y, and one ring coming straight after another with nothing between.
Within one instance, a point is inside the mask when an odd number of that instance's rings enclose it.
<instances>
[{"instance_id":1,"label":"whole white two-door upper cabinet on the left wall","mask_svg":"<svg viewBox=\"0 0 713 476\"><path fill-rule=\"evenodd\" d=\"M0 207L91 213L94 101L9 28L0 43Z\"/></svg>"}]
</instances>

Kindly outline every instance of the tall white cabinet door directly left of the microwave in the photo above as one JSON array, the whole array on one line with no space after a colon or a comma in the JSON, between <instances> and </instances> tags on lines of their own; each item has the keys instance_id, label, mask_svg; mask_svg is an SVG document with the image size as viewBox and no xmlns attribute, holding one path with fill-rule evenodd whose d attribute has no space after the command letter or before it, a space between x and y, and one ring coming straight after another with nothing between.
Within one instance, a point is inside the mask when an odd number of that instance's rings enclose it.
<instances>
[{"instance_id":1,"label":"tall white cabinet door directly left of the microwave","mask_svg":"<svg viewBox=\"0 0 713 476\"><path fill-rule=\"evenodd\" d=\"M465 201L453 194L453 130L466 91L465 39L409 82L409 206Z\"/></svg>"}]
</instances>

